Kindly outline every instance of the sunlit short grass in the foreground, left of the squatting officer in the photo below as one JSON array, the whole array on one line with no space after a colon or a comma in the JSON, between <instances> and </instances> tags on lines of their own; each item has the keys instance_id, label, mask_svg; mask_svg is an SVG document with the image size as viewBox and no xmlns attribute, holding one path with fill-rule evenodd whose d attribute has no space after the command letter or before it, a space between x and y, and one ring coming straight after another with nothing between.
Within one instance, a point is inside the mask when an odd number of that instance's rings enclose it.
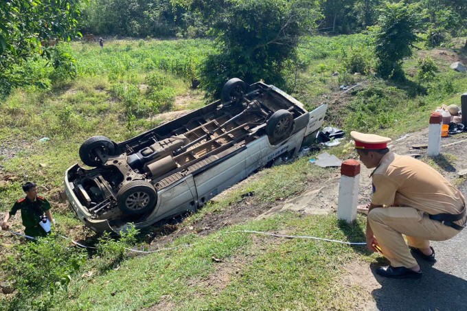
<instances>
[{"instance_id":1,"label":"sunlit short grass in the foreground, left of the squatting officer","mask_svg":"<svg viewBox=\"0 0 467 311\"><path fill-rule=\"evenodd\" d=\"M193 244L190 248L126 260L117 270L94 277L92 282L77 276L67 295L54 305L57 310L64 303L67 310L138 310L169 300L174 303L173 310L231 310L233 306L237 310L262 306L271 310L290 306L345 310L355 306L358 288L345 289L339 273L345 263L367 255L360 246L356 252L343 244L227 232L280 231L361 242L363 219L360 220L356 227L340 229L334 216L302 218L280 214L206 237L185 235L174 245ZM220 269L230 272L224 280L227 284L218 288L203 283L215 278Z\"/></svg>"}]
</instances>

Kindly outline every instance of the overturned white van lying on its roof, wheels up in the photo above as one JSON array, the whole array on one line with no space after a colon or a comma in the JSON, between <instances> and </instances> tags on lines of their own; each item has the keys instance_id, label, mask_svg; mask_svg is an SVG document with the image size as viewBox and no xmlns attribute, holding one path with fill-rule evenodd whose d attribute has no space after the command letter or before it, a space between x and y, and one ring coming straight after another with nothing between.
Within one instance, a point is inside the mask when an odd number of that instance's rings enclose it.
<instances>
[{"instance_id":1,"label":"overturned white van lying on its roof, wheels up","mask_svg":"<svg viewBox=\"0 0 467 311\"><path fill-rule=\"evenodd\" d=\"M115 143L82 143L85 165L65 173L71 208L87 227L118 233L144 228L210 198L316 137L326 105L308 112L272 85L234 78L221 100L146 133Z\"/></svg>"}]
</instances>

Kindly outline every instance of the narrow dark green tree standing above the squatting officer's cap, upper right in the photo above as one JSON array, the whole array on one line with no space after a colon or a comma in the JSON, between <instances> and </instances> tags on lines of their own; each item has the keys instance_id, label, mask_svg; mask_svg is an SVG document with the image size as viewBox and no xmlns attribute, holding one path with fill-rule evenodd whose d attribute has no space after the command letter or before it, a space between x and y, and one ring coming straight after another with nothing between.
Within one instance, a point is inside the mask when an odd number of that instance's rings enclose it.
<instances>
[{"instance_id":1,"label":"narrow dark green tree standing above the squatting officer's cap, upper right","mask_svg":"<svg viewBox=\"0 0 467 311\"><path fill-rule=\"evenodd\" d=\"M383 5L378 25L372 30L375 39L376 71L384 78L404 77L402 59L412 55L418 41L416 34L421 16L415 5L386 3Z\"/></svg>"}]
</instances>

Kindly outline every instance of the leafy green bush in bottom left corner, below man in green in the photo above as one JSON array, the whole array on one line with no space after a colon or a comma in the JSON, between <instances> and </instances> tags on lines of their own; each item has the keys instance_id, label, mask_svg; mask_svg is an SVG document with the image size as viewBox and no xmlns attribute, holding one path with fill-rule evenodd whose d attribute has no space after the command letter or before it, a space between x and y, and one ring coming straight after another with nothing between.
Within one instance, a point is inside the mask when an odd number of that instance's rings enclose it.
<instances>
[{"instance_id":1,"label":"leafy green bush in bottom left corner, below man in green","mask_svg":"<svg viewBox=\"0 0 467 311\"><path fill-rule=\"evenodd\" d=\"M1 263L1 267L16 288L12 306L18 306L17 310L25 310L23 303L29 297L38 297L38 293L42 292L43 297L47 298L58 290L66 290L67 284L87 258L85 251L71 247L68 240L56 233L38 238L37 242L16 244L14 249L16 254L10 255ZM34 300L39 305L44 302Z\"/></svg>"}]
</instances>

